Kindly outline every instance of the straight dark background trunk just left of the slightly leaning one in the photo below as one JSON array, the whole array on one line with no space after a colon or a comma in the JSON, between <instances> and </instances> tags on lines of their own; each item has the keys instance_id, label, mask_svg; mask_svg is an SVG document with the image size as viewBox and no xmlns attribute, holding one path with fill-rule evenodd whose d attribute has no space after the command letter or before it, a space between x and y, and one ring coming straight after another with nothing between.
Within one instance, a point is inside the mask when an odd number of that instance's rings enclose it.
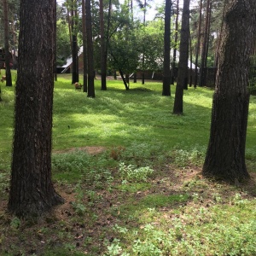
<instances>
[{"instance_id":1,"label":"straight dark background trunk just left of the slightly leaning one","mask_svg":"<svg viewBox=\"0 0 256 256\"><path fill-rule=\"evenodd\" d=\"M164 70L163 70L163 90L162 96L171 96L171 72L170 72L170 48L171 48L171 9L172 0L166 0L165 10L165 50L164 50Z\"/></svg>"}]
</instances>

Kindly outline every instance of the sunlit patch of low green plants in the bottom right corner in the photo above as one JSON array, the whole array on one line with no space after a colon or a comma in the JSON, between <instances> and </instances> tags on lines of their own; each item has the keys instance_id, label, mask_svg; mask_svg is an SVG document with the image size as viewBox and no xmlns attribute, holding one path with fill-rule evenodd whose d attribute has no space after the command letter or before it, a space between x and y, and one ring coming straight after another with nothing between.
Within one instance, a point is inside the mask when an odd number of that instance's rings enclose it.
<instances>
[{"instance_id":1,"label":"sunlit patch of low green plants in the bottom right corner","mask_svg":"<svg viewBox=\"0 0 256 256\"><path fill-rule=\"evenodd\" d=\"M249 211L253 211L255 203L247 202ZM166 224L144 224L139 231L125 229L124 235L119 232L112 247L118 247L120 255L254 255L256 222L253 216L241 222L233 215L241 208L234 206L230 210L221 205L213 211L191 208L192 212L184 212L182 218L166 219ZM154 214L156 219L161 218ZM129 238L131 247L122 243L122 237Z\"/></svg>"}]
</instances>

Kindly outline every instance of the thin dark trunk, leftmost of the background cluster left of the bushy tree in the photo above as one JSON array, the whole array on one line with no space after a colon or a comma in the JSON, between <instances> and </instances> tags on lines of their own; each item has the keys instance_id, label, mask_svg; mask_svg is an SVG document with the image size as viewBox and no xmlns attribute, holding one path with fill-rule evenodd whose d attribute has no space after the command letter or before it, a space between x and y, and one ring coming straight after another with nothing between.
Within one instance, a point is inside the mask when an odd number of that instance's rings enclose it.
<instances>
[{"instance_id":1,"label":"thin dark trunk, leftmost of the background cluster left of the bushy tree","mask_svg":"<svg viewBox=\"0 0 256 256\"><path fill-rule=\"evenodd\" d=\"M78 56L78 36L77 36L77 0L72 0L72 84L79 82L79 56Z\"/></svg>"}]
</instances>

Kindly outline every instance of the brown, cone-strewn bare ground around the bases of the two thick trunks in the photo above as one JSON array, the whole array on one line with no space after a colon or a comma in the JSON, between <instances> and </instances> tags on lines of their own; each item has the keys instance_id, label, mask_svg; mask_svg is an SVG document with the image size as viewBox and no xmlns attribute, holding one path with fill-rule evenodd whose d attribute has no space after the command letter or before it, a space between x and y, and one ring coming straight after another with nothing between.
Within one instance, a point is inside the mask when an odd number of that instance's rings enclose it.
<instances>
[{"instance_id":1,"label":"brown, cone-strewn bare ground around the bases of the two thick trunks","mask_svg":"<svg viewBox=\"0 0 256 256\"><path fill-rule=\"evenodd\" d=\"M79 150L96 155L101 154L104 148L85 147ZM73 148L67 151L72 152ZM157 168L154 169L157 174L149 177L145 183L122 183L119 179L113 179L108 187L100 188L96 183L84 182L78 187L75 183L56 182L55 189L65 203L37 222L9 215L9 189L6 187L0 198L0 255L129 255L121 254L119 244L111 247L111 243L119 241L121 233L127 235L127 230L145 229L147 220L143 221L135 214L142 208L145 211L139 214L144 216L157 209L171 228L170 221L174 218L188 221L184 218L187 209L211 209L216 204L230 207L234 205L232 198L237 193L243 201L253 200L256 196L255 173L251 173L252 178L247 183L232 186L204 179L201 166L178 168L163 165ZM111 172L115 177L117 170L113 168ZM164 201L173 195L186 197L183 200ZM197 218L196 212L189 212L191 218ZM149 222L154 226L162 225L160 218L152 218Z\"/></svg>"}]
</instances>

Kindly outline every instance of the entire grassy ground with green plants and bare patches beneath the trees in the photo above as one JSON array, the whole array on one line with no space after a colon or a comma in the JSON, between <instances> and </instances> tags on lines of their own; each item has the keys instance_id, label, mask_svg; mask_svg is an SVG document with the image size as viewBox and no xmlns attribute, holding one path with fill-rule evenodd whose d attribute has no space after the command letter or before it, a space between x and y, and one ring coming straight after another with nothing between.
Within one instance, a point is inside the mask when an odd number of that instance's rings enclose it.
<instances>
[{"instance_id":1,"label":"entire grassy ground with green plants and bare patches beneath the trees","mask_svg":"<svg viewBox=\"0 0 256 256\"><path fill-rule=\"evenodd\" d=\"M87 98L55 82L52 170L65 199L48 216L6 212L15 88L0 102L0 255L255 255L256 97L251 96L247 167L230 185L201 177L212 90L184 92L184 114L161 83L108 80Z\"/></svg>"}]
</instances>

